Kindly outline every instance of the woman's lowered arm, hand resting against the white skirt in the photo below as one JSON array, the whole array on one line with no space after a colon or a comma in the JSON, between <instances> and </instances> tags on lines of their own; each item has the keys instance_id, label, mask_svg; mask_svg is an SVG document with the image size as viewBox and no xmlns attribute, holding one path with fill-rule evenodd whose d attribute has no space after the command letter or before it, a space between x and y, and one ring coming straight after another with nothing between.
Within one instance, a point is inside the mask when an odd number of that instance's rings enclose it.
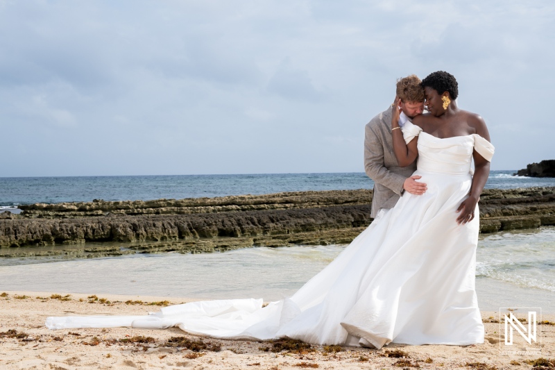
<instances>
[{"instance_id":1,"label":"woman's lowered arm, hand resting against the white skirt","mask_svg":"<svg viewBox=\"0 0 555 370\"><path fill-rule=\"evenodd\" d=\"M486 127L486 122L479 116L472 118L472 126L475 127L476 133L484 139L490 142L490 134L488 133L488 128ZM476 209L476 204L479 201L481 191L484 190L486 181L490 174L490 162L484 157L479 155L477 151L472 153L472 158L474 158L475 172L472 177L472 187L470 188L470 194L468 198L459 205L456 212L459 212L459 217L456 218L457 224L466 224L474 219L474 211Z\"/></svg>"}]
</instances>

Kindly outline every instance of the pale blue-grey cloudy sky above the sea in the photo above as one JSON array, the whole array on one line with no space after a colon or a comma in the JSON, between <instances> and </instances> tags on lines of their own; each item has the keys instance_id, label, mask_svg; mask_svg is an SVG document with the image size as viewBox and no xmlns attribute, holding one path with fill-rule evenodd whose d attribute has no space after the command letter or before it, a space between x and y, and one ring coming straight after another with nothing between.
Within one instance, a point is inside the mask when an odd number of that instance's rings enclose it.
<instances>
[{"instance_id":1,"label":"pale blue-grey cloudy sky above the sea","mask_svg":"<svg viewBox=\"0 0 555 370\"><path fill-rule=\"evenodd\" d=\"M555 2L0 0L0 176L364 171L445 70L492 169L555 159Z\"/></svg>"}]
</instances>

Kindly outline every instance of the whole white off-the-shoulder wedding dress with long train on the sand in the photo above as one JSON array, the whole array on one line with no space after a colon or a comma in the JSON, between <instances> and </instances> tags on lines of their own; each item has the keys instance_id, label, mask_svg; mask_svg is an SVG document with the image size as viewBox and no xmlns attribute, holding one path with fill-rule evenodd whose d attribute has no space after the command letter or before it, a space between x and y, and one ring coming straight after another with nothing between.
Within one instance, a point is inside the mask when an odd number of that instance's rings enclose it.
<instances>
[{"instance_id":1,"label":"whole white off-the-shoulder wedding dress with long train on the sand","mask_svg":"<svg viewBox=\"0 0 555 370\"><path fill-rule=\"evenodd\" d=\"M479 135L439 139L410 122L418 169L427 192L403 194L291 298L200 301L146 316L49 317L62 328L169 328L223 339L289 337L312 344L376 348L404 344L484 342L475 292L479 217L456 223L470 192L472 151L486 160L493 145Z\"/></svg>"}]
</instances>

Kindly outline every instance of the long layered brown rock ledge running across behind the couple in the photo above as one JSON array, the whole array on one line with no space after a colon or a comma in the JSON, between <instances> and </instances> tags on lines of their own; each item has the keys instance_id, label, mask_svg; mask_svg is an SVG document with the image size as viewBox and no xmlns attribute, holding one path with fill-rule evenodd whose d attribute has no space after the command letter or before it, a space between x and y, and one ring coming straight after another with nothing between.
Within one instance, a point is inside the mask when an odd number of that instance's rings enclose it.
<instances>
[{"instance_id":1,"label":"long layered brown rock ledge running across behind the couple","mask_svg":"<svg viewBox=\"0 0 555 370\"><path fill-rule=\"evenodd\" d=\"M94 258L347 244L371 223L371 201L371 190L334 190L22 205L19 215L0 215L0 248L10 249L1 256ZM555 225L555 187L484 190L479 207L481 233ZM26 248L37 246L56 248Z\"/></svg>"}]
</instances>

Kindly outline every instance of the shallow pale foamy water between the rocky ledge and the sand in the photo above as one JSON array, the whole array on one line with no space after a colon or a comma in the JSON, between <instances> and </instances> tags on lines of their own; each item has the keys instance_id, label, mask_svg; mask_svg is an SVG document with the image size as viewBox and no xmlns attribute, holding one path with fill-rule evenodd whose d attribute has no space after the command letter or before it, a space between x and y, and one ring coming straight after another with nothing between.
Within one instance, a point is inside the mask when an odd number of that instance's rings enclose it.
<instances>
[{"instance_id":1,"label":"shallow pale foamy water between the rocky ledge and the sand","mask_svg":"<svg viewBox=\"0 0 555 370\"><path fill-rule=\"evenodd\" d=\"M22 290L187 298L291 296L345 246L250 248L223 253L128 255L92 260L1 259L0 292ZM555 227L480 235L481 310L555 313Z\"/></svg>"}]
</instances>

